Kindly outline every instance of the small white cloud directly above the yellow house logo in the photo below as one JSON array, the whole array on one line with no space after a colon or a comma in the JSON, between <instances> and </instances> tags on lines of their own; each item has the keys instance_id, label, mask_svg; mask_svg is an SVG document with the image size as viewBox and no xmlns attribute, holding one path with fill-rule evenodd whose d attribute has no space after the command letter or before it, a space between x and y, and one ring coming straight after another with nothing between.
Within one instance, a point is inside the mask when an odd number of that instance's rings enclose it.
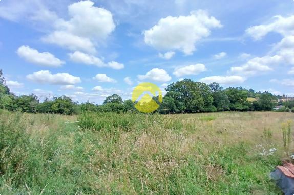
<instances>
[{"instance_id":1,"label":"small white cloud directly above the yellow house logo","mask_svg":"<svg viewBox=\"0 0 294 195\"><path fill-rule=\"evenodd\" d=\"M139 80L149 79L158 82L167 82L172 79L172 77L163 69L153 68L146 75L138 75Z\"/></svg>"}]
</instances>

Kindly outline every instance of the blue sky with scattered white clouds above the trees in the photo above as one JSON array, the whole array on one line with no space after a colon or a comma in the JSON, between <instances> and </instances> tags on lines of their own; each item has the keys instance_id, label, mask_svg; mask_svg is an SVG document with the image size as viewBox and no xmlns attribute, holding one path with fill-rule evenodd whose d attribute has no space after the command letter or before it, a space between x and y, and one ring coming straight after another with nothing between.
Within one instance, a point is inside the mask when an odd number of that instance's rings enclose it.
<instances>
[{"instance_id":1,"label":"blue sky with scattered white clouds above the trees","mask_svg":"<svg viewBox=\"0 0 294 195\"><path fill-rule=\"evenodd\" d=\"M41 101L184 78L294 96L294 1L0 0L0 69Z\"/></svg>"}]
</instances>

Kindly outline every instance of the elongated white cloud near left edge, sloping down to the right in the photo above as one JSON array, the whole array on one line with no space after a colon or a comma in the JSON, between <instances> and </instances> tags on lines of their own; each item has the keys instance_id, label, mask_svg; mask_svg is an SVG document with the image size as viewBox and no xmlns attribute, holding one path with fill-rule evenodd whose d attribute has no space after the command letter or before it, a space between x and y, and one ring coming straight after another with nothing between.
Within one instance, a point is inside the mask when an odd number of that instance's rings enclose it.
<instances>
[{"instance_id":1,"label":"elongated white cloud near left edge, sloping down to the right","mask_svg":"<svg viewBox=\"0 0 294 195\"><path fill-rule=\"evenodd\" d=\"M59 60L49 52L40 53L37 50L25 45L19 47L16 53L19 57L24 58L26 61L41 66L60 67L62 64L65 64L65 62Z\"/></svg>"}]
</instances>

